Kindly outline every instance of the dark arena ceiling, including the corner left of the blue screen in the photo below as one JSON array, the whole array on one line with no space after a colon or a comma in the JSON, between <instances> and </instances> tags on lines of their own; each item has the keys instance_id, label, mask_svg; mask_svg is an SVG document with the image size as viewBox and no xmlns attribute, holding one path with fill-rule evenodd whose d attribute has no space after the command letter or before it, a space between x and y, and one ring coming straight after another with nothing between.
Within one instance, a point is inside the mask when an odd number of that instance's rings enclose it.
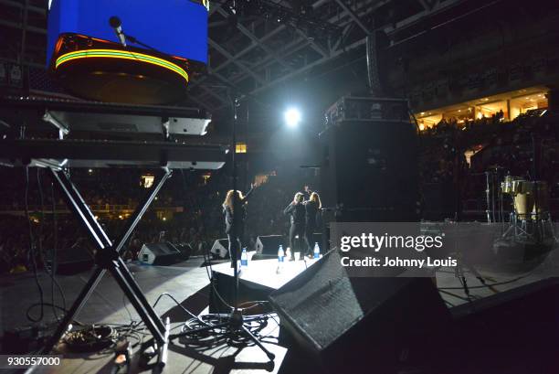
<instances>
[{"instance_id":1,"label":"dark arena ceiling, including the corner left of the blue screen","mask_svg":"<svg viewBox=\"0 0 559 374\"><path fill-rule=\"evenodd\" d=\"M413 28L472 0L230 0L211 3L209 64L189 101L209 112L230 105L229 92L255 95L335 66L374 30ZM47 0L0 0L0 58L44 66ZM22 48L22 44L25 48Z\"/></svg>"}]
</instances>

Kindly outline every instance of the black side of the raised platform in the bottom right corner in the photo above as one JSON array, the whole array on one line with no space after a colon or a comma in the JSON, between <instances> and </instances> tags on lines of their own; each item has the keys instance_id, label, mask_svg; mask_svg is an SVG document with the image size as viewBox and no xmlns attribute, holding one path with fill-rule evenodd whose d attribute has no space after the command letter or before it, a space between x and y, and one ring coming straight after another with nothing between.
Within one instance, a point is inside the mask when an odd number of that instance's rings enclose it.
<instances>
[{"instance_id":1,"label":"black side of the raised platform in the bottom right corner","mask_svg":"<svg viewBox=\"0 0 559 374\"><path fill-rule=\"evenodd\" d=\"M501 288L501 287L497 287ZM437 373L554 373L559 350L559 283L523 285L451 309Z\"/></svg>"}]
</instances>

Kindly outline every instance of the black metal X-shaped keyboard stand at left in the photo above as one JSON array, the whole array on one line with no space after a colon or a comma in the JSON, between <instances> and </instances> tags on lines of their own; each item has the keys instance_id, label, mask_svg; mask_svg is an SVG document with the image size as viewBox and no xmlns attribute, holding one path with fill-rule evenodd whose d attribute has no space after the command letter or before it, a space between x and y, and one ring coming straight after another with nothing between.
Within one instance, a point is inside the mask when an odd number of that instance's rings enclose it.
<instances>
[{"instance_id":1,"label":"black metal X-shaped keyboard stand at left","mask_svg":"<svg viewBox=\"0 0 559 374\"><path fill-rule=\"evenodd\" d=\"M157 343L157 349L159 351L158 363L163 366L167 356L166 349L169 339L169 325L163 324L163 321L155 313L152 305L148 303L142 293L142 290L140 289L140 286L136 283L132 277L132 273L128 270L126 263L120 256L124 244L130 239L133 230L138 225L138 222L140 222L140 219L142 219L143 214L152 203L153 198L157 196L157 193L161 187L163 187L163 183L169 178L169 176L171 176L172 171L166 167L163 168L163 175L160 176L157 183L153 183L153 187L151 187L130 219L128 219L124 230L122 230L121 237L116 240L115 243L112 243L105 231L100 227L100 224L97 219L95 219L95 216L91 213L88 205L79 195L78 189L69 180L66 173L57 168L49 168L49 170L54 180L57 181L58 187L62 190L66 203L76 218L79 219L84 229L88 232L90 239L97 247L97 251L95 254L95 271L91 275L88 283L86 283L82 288L78 298L74 301L74 304L70 307L68 313L64 315L64 318L58 325L54 335L48 340L45 347L43 347L42 353L49 353L53 347L57 345L60 338L62 338L66 333L69 323L74 320L76 315L79 314L79 311L88 301L91 293L100 283L100 280L105 272L109 271L121 287L122 292L126 294L132 303L136 312L138 312L138 315L142 317L142 321L145 326L152 333L153 339Z\"/></svg>"}]
</instances>

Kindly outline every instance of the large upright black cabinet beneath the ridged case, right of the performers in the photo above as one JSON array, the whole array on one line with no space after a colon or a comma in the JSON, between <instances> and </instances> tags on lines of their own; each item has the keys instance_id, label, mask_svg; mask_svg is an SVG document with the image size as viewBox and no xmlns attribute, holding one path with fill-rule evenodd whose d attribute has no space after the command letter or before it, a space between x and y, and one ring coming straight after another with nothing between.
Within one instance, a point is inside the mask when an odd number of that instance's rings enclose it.
<instances>
[{"instance_id":1,"label":"large upright black cabinet beneath the ridged case, right of the performers","mask_svg":"<svg viewBox=\"0 0 559 374\"><path fill-rule=\"evenodd\" d=\"M417 134L411 123L342 121L320 139L322 206L335 213L333 219L417 220Z\"/></svg>"}]
</instances>

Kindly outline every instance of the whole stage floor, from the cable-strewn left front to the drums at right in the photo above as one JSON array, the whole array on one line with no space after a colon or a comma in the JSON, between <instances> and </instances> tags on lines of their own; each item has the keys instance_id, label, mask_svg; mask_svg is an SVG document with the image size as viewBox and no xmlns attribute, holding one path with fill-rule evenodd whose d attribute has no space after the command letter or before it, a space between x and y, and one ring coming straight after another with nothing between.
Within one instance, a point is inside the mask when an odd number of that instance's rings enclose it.
<instances>
[{"instance_id":1,"label":"whole stage floor, from the cable-strewn left front to the drums at right","mask_svg":"<svg viewBox=\"0 0 559 374\"><path fill-rule=\"evenodd\" d=\"M135 279L142 287L148 301L153 304L157 297L163 293L172 294L181 305L188 308L191 312L205 314L210 304L211 292L208 279L209 268L201 268L203 259L191 259L188 262L181 262L174 266L149 266L139 263L129 263L129 268L133 272ZM313 261L307 261L307 266L312 266ZM279 288L291 278L305 270L305 262L286 262L282 272L277 272L277 260L249 261L248 267L244 267L240 274L241 290L243 286L257 288L262 293L269 293ZM228 262L223 262L212 266L212 271L221 277L230 277L232 269ZM58 276L67 297L67 305L76 297L79 289L87 281L88 272L72 276ZM227 279L227 278L224 278ZM504 282L510 278L492 279L491 282ZM44 288L44 300L50 302L50 283L46 274L39 274L39 281ZM518 289L524 293L531 293L549 283L556 283L555 280L543 281L536 275L527 275L514 283L503 283L496 287L498 294L487 287L478 287L474 277L469 278L471 285L472 302L465 300L464 294L460 290L453 289L451 294L441 293L441 296L448 303L450 312L455 318L466 318L468 315L480 312L491 305L499 304L497 296L505 295L507 290ZM459 282L449 272L441 272L437 277L439 288L459 287ZM223 290L219 290L222 292ZM242 294L242 293L241 293ZM510 295L510 294L509 294ZM516 297L516 296L514 296ZM514 298L509 296L509 299ZM505 297L506 298L506 297ZM15 328L16 326L26 326L25 311L28 305L37 302L37 286L31 272L24 274L8 274L0 278L0 305L2 318L0 322L2 330ZM502 299L501 299L502 300ZM56 296L56 304L60 305L59 295ZM410 305L411 306L411 305ZM413 306L411 306L413 307ZM190 319L190 316L168 297L163 297L156 305L155 310L158 315L171 318L173 331L178 332L183 323ZM37 315L38 309L32 311ZM131 320L139 320L131 305L124 299L120 288L116 286L110 276L105 276L95 292L91 295L89 302L78 316L82 324L129 324ZM54 321L51 308L45 307L44 321ZM276 315L271 315L268 319L268 326L261 332L264 345L269 348L276 358L273 367L266 362L268 359L258 349L258 347L227 347L225 344L211 348L182 347L169 348L169 361L164 369L167 373L245 373L245 372L272 372L272 373L303 373L314 372L311 361L301 357L296 347L284 344L279 340L280 327L279 319ZM522 329L525 326L518 324L511 328ZM452 333L449 332L449 335ZM483 341L482 344L487 344ZM4 350L4 349L3 349ZM510 351L507 351L510 352ZM110 372L113 354L67 354L62 360L62 365L56 369L37 369L35 372L57 372L57 373L97 373ZM520 358L519 358L520 359ZM131 372L145 372L136 366L137 359L132 361ZM373 370L372 370L373 371ZM417 371L424 372L424 371ZM456 371L468 372L468 371ZM486 372L486 371L480 371ZM489 372L489 371L488 371ZM500 372L500 371L494 371ZM516 372L516 371L510 371ZM540 372L540 371L538 371ZM541 371L545 372L545 371Z\"/></svg>"}]
</instances>

